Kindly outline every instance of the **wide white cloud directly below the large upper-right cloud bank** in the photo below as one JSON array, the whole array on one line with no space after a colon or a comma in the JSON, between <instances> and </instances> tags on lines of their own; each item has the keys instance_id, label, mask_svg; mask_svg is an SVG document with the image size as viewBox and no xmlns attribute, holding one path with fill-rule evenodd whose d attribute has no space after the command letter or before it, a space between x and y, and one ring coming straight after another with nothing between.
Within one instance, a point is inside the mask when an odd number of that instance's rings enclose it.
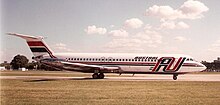
<instances>
[{"instance_id":1,"label":"wide white cloud directly below the large upper-right cloud bank","mask_svg":"<svg viewBox=\"0 0 220 105\"><path fill-rule=\"evenodd\" d=\"M163 21L160 25L161 29L186 29L189 28L189 25L187 25L184 22L178 22L175 23L174 21Z\"/></svg>"}]
</instances>

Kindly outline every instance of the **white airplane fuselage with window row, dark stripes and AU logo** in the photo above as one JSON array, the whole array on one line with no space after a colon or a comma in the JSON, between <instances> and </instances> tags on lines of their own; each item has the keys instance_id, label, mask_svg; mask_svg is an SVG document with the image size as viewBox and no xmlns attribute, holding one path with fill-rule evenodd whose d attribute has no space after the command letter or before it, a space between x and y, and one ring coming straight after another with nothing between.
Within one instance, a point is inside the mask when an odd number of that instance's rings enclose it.
<instances>
[{"instance_id":1,"label":"white airplane fuselage with window row, dark stripes and AU logo","mask_svg":"<svg viewBox=\"0 0 220 105\"><path fill-rule=\"evenodd\" d=\"M188 73L206 67L181 54L54 53L58 59L88 65L115 66L122 73ZM48 57L49 56L45 56Z\"/></svg>"}]
</instances>

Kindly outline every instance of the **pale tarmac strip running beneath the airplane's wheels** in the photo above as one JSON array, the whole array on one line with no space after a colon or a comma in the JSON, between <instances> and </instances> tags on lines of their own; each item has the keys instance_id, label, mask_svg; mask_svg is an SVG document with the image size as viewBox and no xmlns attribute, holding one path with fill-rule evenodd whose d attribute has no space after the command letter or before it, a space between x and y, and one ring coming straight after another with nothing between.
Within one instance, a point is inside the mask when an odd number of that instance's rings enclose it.
<instances>
[{"instance_id":1,"label":"pale tarmac strip running beneath the airplane's wheels","mask_svg":"<svg viewBox=\"0 0 220 105\"><path fill-rule=\"evenodd\" d=\"M175 81L172 75L135 75L135 76L106 76L104 79L92 79L91 77L64 77L64 76L0 76L0 79L24 79L24 80L102 80L102 81ZM220 81L220 74L185 74L179 75L176 81Z\"/></svg>"}]
</instances>

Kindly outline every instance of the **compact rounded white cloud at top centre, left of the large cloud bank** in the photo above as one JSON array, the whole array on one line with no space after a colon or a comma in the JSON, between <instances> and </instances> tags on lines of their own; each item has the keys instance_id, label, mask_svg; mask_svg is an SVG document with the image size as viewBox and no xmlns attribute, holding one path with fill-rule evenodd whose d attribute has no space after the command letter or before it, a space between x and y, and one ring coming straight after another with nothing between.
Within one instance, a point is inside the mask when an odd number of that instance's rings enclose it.
<instances>
[{"instance_id":1,"label":"compact rounded white cloud at top centre, left of the large cloud bank","mask_svg":"<svg viewBox=\"0 0 220 105\"><path fill-rule=\"evenodd\" d=\"M138 18L131 18L125 21L124 26L128 28L140 28L143 22Z\"/></svg>"}]
</instances>

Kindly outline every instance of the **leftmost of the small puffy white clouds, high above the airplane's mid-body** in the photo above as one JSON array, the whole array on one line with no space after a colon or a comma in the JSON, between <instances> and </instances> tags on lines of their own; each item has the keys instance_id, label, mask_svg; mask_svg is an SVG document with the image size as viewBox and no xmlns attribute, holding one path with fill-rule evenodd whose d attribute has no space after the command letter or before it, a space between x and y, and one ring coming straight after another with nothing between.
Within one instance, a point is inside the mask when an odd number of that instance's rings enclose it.
<instances>
[{"instance_id":1,"label":"leftmost of the small puffy white clouds, high above the airplane's mid-body","mask_svg":"<svg viewBox=\"0 0 220 105\"><path fill-rule=\"evenodd\" d=\"M87 34L105 34L107 32L106 28L97 28L95 25L88 26L87 29L85 29L85 32Z\"/></svg>"}]
</instances>

